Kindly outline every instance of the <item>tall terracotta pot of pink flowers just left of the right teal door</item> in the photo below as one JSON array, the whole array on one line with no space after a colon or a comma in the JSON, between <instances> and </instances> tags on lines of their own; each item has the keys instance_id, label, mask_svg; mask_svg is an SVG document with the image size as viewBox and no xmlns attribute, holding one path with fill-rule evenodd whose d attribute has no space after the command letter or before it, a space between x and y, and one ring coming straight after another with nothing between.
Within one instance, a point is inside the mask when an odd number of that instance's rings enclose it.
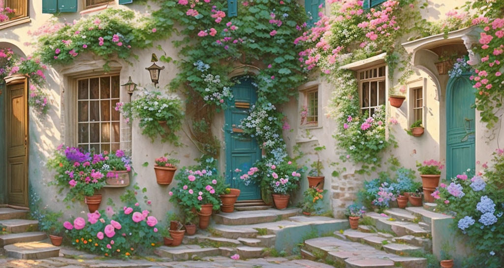
<instances>
[{"instance_id":1,"label":"tall terracotta pot of pink flowers just left of the right teal door","mask_svg":"<svg viewBox=\"0 0 504 268\"><path fill-rule=\"evenodd\" d=\"M422 178L423 197L426 202L433 202L434 198L431 194L439 185L439 177L444 165L434 159L430 159L425 160L423 164L417 162L416 166Z\"/></svg>"}]
</instances>

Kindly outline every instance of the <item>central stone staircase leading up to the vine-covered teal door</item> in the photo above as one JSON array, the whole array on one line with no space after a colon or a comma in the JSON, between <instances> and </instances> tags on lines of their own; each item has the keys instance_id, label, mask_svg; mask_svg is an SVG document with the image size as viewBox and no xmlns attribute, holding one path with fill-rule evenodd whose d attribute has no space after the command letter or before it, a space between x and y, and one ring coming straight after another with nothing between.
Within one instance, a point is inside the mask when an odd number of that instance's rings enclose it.
<instances>
[{"instance_id":1,"label":"central stone staircase leading up to the vine-covered teal door","mask_svg":"<svg viewBox=\"0 0 504 268\"><path fill-rule=\"evenodd\" d=\"M348 228L347 220L299 216L300 212L299 208L219 212L207 230L185 236L180 246L161 246L155 252L171 260L234 254L239 254L240 259L260 258L282 250L291 252L307 234L317 237Z\"/></svg>"}]
</instances>

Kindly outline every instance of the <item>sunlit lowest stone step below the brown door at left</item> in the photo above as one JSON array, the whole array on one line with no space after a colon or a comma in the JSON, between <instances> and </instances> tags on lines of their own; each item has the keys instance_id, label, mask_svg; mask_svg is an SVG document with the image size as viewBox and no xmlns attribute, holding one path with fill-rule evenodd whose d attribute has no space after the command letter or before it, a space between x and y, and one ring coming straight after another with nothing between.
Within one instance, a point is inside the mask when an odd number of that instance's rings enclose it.
<instances>
[{"instance_id":1,"label":"sunlit lowest stone step below the brown door at left","mask_svg":"<svg viewBox=\"0 0 504 268\"><path fill-rule=\"evenodd\" d=\"M4 247L7 256L16 259L43 259L59 256L59 247L42 242L15 243Z\"/></svg>"}]
</instances>

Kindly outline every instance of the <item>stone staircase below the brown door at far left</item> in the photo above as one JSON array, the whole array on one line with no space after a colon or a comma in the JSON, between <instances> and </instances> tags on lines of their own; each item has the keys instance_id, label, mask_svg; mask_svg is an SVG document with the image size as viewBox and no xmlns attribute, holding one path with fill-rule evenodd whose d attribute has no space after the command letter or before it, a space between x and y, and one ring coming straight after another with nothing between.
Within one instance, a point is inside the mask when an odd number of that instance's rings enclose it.
<instances>
[{"instance_id":1,"label":"stone staircase below the brown door at far left","mask_svg":"<svg viewBox=\"0 0 504 268\"><path fill-rule=\"evenodd\" d=\"M0 207L0 226L7 231L7 234L0 235L0 247L3 247L6 255L12 258L57 257L59 247L46 241L45 233L37 232L38 221L26 220L27 214L27 210Z\"/></svg>"}]
</instances>

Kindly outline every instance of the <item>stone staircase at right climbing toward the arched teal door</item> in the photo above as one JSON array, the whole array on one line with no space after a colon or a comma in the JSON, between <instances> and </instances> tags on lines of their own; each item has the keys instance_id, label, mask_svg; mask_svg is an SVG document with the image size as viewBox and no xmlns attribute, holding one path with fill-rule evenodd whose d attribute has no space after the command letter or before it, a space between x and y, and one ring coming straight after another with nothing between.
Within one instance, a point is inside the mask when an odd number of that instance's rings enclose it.
<instances>
[{"instance_id":1,"label":"stone staircase at right climbing toward the arched teal door","mask_svg":"<svg viewBox=\"0 0 504 268\"><path fill-rule=\"evenodd\" d=\"M426 208L390 208L382 214L368 212L362 222L369 225L306 240L301 255L336 267L425 268L427 259L422 255L432 253L432 220L450 218Z\"/></svg>"}]
</instances>

